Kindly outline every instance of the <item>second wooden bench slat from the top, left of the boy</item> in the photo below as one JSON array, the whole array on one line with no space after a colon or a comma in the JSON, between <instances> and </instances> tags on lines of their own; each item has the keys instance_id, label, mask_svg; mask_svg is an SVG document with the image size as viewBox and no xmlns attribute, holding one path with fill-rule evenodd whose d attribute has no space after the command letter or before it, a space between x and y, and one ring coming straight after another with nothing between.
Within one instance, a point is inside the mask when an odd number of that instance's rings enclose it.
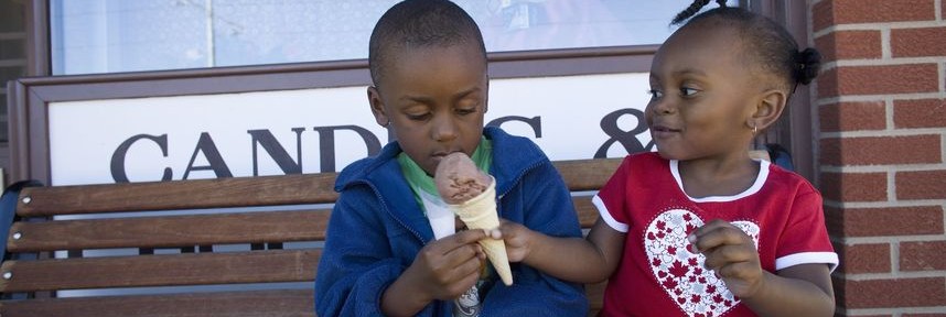
<instances>
[{"instance_id":1,"label":"second wooden bench slat from the top, left of the boy","mask_svg":"<svg viewBox=\"0 0 946 317\"><path fill-rule=\"evenodd\" d=\"M17 222L11 252L325 240L331 210ZM103 228L108 228L103 230ZM20 233L20 239L13 239Z\"/></svg>"}]
</instances>

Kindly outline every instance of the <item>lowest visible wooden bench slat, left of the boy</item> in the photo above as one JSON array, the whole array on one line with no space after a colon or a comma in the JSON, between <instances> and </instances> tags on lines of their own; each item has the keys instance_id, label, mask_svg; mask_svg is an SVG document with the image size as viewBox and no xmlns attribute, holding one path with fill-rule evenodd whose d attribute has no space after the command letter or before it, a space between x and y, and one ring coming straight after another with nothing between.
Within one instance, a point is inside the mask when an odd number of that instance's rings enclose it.
<instances>
[{"instance_id":1,"label":"lowest visible wooden bench slat, left of the boy","mask_svg":"<svg viewBox=\"0 0 946 317\"><path fill-rule=\"evenodd\" d=\"M219 292L0 303L0 315L15 316L315 316L313 289Z\"/></svg>"}]
</instances>

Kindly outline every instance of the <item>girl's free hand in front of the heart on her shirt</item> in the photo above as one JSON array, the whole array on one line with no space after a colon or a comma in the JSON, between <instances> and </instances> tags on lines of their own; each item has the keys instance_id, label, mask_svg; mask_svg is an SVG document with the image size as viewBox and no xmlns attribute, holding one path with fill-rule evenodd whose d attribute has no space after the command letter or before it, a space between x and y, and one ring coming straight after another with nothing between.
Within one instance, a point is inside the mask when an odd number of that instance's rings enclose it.
<instances>
[{"instance_id":1,"label":"girl's free hand in front of the heart on her shirt","mask_svg":"<svg viewBox=\"0 0 946 317\"><path fill-rule=\"evenodd\" d=\"M749 298L762 288L765 277L759 251L741 229L716 219L694 230L687 239L696 249L691 252L706 255L703 265L716 272L733 295Z\"/></svg>"}]
</instances>

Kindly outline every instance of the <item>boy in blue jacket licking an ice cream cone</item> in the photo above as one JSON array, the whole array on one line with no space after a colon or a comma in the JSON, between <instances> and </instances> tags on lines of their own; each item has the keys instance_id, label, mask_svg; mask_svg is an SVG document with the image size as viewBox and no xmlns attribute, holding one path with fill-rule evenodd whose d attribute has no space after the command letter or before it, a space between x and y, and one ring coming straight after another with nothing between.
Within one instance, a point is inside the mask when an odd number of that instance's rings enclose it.
<instances>
[{"instance_id":1,"label":"boy in blue jacket licking an ice cream cone","mask_svg":"<svg viewBox=\"0 0 946 317\"><path fill-rule=\"evenodd\" d=\"M522 264L513 286L496 283L481 269L490 267L476 244L485 232L456 230L437 195L437 164L464 152L495 177L502 218L581 237L568 188L538 146L483 128L486 50L472 18L445 0L404 1L375 25L368 56L370 109L397 142L338 175L319 316L585 315L580 284Z\"/></svg>"}]
</instances>

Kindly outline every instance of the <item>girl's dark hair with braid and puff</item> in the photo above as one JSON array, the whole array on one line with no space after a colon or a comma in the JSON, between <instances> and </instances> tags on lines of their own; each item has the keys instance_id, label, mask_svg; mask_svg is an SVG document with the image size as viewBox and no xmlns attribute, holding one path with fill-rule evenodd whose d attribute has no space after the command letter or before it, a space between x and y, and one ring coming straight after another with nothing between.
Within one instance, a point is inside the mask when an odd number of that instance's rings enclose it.
<instances>
[{"instance_id":1,"label":"girl's dark hair with braid and puff","mask_svg":"<svg viewBox=\"0 0 946 317\"><path fill-rule=\"evenodd\" d=\"M725 0L716 0L719 8L694 17L709 2L710 0L694 1L674 18L671 24L680 24L689 19L681 29L707 24L734 28L741 35L742 51L751 62L762 72L780 78L780 88L788 94L794 92L798 84L808 85L818 76L821 54L811 47L798 51L798 43L785 28L745 9L727 7Z\"/></svg>"}]
</instances>

